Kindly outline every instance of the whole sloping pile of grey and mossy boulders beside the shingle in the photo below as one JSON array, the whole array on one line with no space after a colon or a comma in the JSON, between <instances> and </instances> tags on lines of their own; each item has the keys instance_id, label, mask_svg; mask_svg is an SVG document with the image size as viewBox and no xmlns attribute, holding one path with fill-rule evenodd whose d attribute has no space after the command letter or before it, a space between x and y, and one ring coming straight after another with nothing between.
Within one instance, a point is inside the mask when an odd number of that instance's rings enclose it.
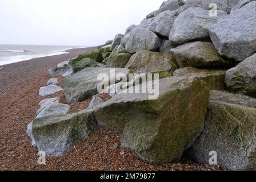
<instances>
[{"instance_id":1,"label":"whole sloping pile of grey and mossy boulders beside the shingle","mask_svg":"<svg viewBox=\"0 0 256 182\"><path fill-rule=\"evenodd\" d=\"M53 76L69 71L69 104L94 99L80 113L40 115L29 135L46 155L59 156L101 126L121 134L121 145L145 162L186 154L209 163L214 151L219 166L256 169L255 27L256 1L165 1L125 34L52 69ZM116 75L159 73L159 97L122 92L98 100L98 75L111 68ZM121 81L112 79L110 90ZM122 82L133 89L138 79ZM145 82L156 86L137 84Z\"/></svg>"}]
</instances>

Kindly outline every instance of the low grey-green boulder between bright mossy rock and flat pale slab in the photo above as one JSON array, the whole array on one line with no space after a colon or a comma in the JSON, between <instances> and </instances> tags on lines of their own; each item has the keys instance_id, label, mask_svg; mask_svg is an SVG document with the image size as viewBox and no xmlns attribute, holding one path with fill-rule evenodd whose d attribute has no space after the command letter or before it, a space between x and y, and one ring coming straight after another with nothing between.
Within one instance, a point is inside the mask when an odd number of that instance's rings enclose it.
<instances>
[{"instance_id":1,"label":"low grey-green boulder between bright mossy rock and flat pale slab","mask_svg":"<svg viewBox=\"0 0 256 182\"><path fill-rule=\"evenodd\" d=\"M85 58L77 63L73 64L73 72L77 73L81 71L82 69L88 68L88 67L105 67L104 64L98 63L97 61L94 61L93 59L90 58Z\"/></svg>"}]
</instances>

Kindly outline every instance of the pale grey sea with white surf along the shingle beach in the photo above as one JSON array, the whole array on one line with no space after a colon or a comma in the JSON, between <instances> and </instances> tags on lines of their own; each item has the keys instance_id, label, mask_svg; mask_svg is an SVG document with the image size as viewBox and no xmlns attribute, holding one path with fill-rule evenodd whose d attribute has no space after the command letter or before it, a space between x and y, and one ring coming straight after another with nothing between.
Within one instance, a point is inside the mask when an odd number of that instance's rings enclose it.
<instances>
[{"instance_id":1,"label":"pale grey sea with white surf along the shingle beach","mask_svg":"<svg viewBox=\"0 0 256 182\"><path fill-rule=\"evenodd\" d=\"M61 55L68 49L82 48L81 46L32 46L32 45L3 45L0 44L0 68L1 65L17 63L34 59L37 57L46 57Z\"/></svg>"}]
</instances>

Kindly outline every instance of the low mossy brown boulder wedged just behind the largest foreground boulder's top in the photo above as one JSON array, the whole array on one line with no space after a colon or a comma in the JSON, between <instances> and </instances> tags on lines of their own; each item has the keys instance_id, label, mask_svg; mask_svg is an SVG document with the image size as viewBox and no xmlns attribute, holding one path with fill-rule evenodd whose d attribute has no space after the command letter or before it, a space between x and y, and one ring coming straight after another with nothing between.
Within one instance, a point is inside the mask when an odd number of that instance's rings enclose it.
<instances>
[{"instance_id":1,"label":"low mossy brown boulder wedged just behind the largest foreground boulder's top","mask_svg":"<svg viewBox=\"0 0 256 182\"><path fill-rule=\"evenodd\" d=\"M199 77L205 81L211 90L224 90L226 71L213 69L197 69L192 67L177 69L173 76Z\"/></svg>"}]
</instances>

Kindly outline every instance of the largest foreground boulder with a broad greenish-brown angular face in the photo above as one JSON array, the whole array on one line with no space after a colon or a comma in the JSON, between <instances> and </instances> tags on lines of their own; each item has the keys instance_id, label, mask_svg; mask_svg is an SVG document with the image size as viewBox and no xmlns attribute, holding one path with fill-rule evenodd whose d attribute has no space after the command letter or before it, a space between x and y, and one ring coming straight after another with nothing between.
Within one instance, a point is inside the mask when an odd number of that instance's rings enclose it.
<instances>
[{"instance_id":1,"label":"largest foreground boulder with a broad greenish-brown angular face","mask_svg":"<svg viewBox=\"0 0 256 182\"><path fill-rule=\"evenodd\" d=\"M167 77L159 80L156 100L149 94L116 94L97 106L94 117L100 126L122 133L121 145L139 158L164 164L181 158L197 139L208 99L209 89L199 78Z\"/></svg>"}]
</instances>

